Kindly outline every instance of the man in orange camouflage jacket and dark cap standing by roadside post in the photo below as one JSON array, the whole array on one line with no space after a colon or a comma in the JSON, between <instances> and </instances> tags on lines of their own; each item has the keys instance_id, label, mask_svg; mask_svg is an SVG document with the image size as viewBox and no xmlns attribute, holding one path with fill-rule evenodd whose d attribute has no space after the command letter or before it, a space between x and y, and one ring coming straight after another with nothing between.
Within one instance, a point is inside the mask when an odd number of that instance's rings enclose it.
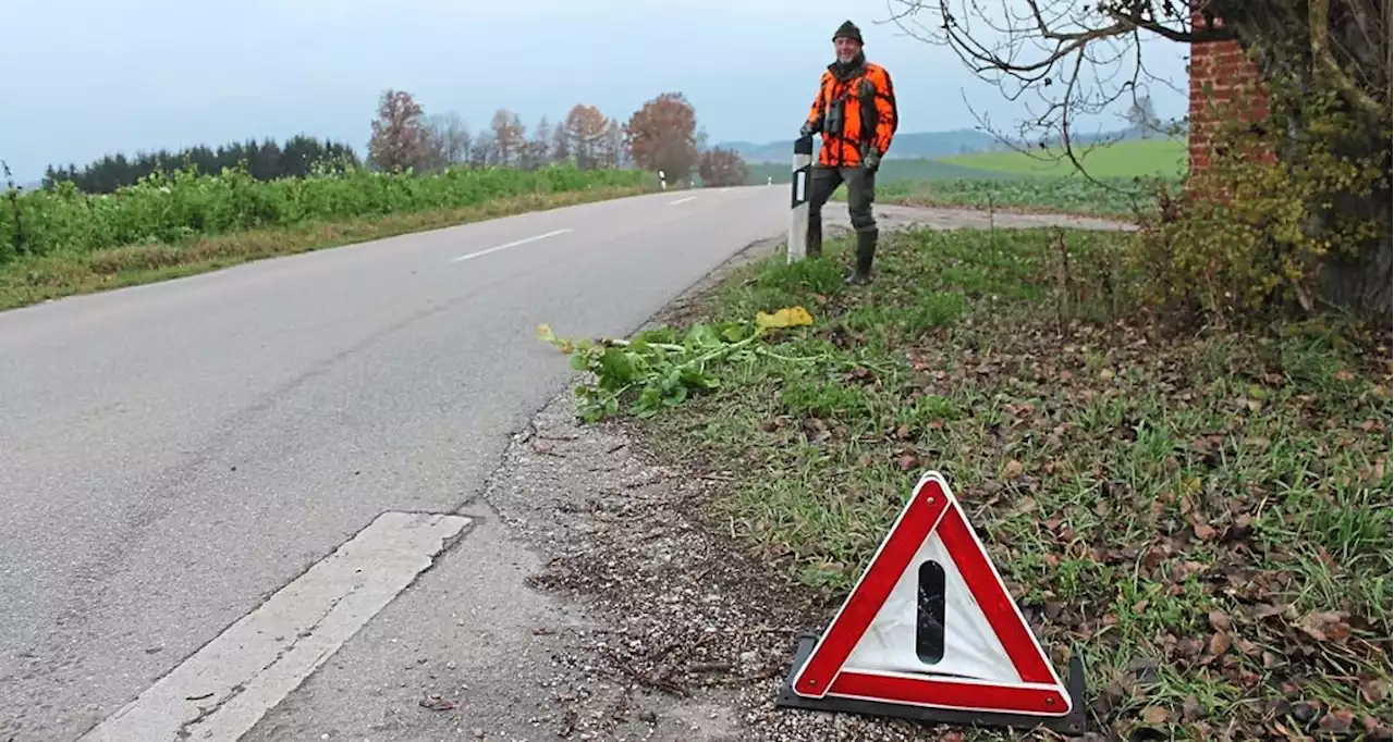
<instances>
[{"instance_id":1,"label":"man in orange camouflage jacket and dark cap standing by roadside post","mask_svg":"<svg viewBox=\"0 0 1394 742\"><path fill-rule=\"evenodd\" d=\"M895 88L884 67L868 63L861 53L861 31L846 21L832 35L836 61L818 82L800 136L822 135L818 161L809 188L810 258L822 255L822 206L843 182L848 184L848 213L857 235L856 270L849 284L871 280L877 224L871 216L875 200L875 171L891 149L899 124Z\"/></svg>"}]
</instances>

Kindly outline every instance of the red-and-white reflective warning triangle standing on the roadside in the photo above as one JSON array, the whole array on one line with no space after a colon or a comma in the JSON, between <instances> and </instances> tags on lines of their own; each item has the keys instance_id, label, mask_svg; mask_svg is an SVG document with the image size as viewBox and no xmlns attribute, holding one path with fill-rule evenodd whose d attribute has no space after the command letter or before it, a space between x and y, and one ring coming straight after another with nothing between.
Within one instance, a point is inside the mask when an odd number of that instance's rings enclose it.
<instances>
[{"instance_id":1,"label":"red-and-white reflective warning triangle standing on the roadside","mask_svg":"<svg viewBox=\"0 0 1394 742\"><path fill-rule=\"evenodd\" d=\"M1083 711L1082 689L1072 693L1055 674L938 472L920 477L806 654L786 688L797 697L786 692L785 706L845 699L930 711L898 716L940 718L933 710L944 710L986 723L993 720L983 714L1048 720ZM1082 684L1082 667L1078 675Z\"/></svg>"}]
</instances>

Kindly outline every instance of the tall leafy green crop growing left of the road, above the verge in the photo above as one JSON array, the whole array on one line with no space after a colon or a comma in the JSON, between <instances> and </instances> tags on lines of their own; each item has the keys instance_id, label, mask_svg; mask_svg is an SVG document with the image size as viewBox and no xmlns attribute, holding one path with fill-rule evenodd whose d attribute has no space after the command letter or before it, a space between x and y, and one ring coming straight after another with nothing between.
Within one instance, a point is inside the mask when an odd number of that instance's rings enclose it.
<instances>
[{"instance_id":1,"label":"tall leafy green crop growing left of the road, above the verge","mask_svg":"<svg viewBox=\"0 0 1394 742\"><path fill-rule=\"evenodd\" d=\"M22 220L24 252L88 253L137 244L170 244L259 227L375 217L474 206L507 196L636 187L633 170L577 170L553 166L449 170L441 174L323 168L307 178L256 181L245 170L217 175L192 170L153 173L114 194L88 195L72 182L13 199L0 209L0 263L21 252L11 235Z\"/></svg>"}]
</instances>

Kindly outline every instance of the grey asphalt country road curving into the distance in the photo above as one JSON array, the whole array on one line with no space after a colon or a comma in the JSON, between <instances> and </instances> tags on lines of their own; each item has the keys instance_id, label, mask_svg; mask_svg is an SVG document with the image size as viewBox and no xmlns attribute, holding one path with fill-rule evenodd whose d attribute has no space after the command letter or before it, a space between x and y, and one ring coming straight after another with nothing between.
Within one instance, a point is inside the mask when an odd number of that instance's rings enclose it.
<instances>
[{"instance_id":1,"label":"grey asphalt country road curving into the distance","mask_svg":"<svg viewBox=\"0 0 1394 742\"><path fill-rule=\"evenodd\" d=\"M457 511L572 374L538 323L627 334L786 224L783 187L657 194L0 313L0 739L77 739L379 514Z\"/></svg>"}]
</instances>

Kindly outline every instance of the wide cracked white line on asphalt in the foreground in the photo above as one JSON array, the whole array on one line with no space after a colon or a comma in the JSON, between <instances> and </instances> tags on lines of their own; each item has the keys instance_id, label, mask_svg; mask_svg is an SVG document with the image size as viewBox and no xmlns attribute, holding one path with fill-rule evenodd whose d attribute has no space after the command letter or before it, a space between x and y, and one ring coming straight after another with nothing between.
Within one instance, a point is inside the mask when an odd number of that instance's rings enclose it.
<instances>
[{"instance_id":1,"label":"wide cracked white line on asphalt in the foreground","mask_svg":"<svg viewBox=\"0 0 1394 742\"><path fill-rule=\"evenodd\" d=\"M383 512L78 742L236 742L471 523Z\"/></svg>"}]
</instances>

